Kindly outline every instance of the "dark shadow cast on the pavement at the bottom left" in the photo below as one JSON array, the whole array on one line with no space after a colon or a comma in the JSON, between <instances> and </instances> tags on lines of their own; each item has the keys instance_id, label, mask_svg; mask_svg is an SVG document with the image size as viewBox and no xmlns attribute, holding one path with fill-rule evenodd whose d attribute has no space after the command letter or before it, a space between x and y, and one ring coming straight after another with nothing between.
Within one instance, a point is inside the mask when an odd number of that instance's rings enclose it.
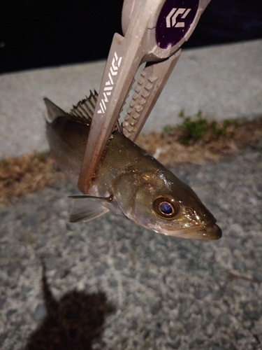
<instances>
[{"instance_id":1,"label":"dark shadow cast on the pavement at the bottom left","mask_svg":"<svg viewBox=\"0 0 262 350\"><path fill-rule=\"evenodd\" d=\"M105 315L114 311L105 293L73 290L57 301L50 290L43 265L42 288L47 316L31 334L26 350L92 350L100 339Z\"/></svg>"}]
</instances>

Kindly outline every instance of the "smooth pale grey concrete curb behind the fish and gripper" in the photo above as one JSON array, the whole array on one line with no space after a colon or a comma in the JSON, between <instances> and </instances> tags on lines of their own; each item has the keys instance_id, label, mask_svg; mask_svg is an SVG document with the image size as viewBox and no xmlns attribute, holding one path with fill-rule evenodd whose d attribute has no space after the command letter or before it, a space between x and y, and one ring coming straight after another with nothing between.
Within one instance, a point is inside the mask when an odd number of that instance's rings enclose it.
<instances>
[{"instance_id":1,"label":"smooth pale grey concrete curb behind the fish and gripper","mask_svg":"<svg viewBox=\"0 0 262 350\"><path fill-rule=\"evenodd\" d=\"M99 90L105 62L74 64L0 75L0 158L48 148L43 97L69 111ZM209 118L262 113L262 40L182 50L144 132L181 123L202 111Z\"/></svg>"}]
</instances>

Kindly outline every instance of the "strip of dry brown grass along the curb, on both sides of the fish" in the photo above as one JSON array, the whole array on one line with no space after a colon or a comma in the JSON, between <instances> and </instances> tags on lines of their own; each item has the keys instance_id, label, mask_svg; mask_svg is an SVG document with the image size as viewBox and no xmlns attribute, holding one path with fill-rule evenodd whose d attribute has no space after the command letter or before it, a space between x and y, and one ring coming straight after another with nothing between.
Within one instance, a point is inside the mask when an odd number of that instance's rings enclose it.
<instances>
[{"instance_id":1,"label":"strip of dry brown grass along the curb, on both sides of the fish","mask_svg":"<svg viewBox=\"0 0 262 350\"><path fill-rule=\"evenodd\" d=\"M191 162L217 161L244 146L254 146L262 141L262 118L231 121L223 136L214 137L208 132L194 144L181 144L181 131L166 134L142 134L139 146L154 155L163 165ZM52 186L64 180L64 175L53 169L54 160L48 153L29 153L18 158L0 161L0 204L8 204L21 195Z\"/></svg>"}]
</instances>

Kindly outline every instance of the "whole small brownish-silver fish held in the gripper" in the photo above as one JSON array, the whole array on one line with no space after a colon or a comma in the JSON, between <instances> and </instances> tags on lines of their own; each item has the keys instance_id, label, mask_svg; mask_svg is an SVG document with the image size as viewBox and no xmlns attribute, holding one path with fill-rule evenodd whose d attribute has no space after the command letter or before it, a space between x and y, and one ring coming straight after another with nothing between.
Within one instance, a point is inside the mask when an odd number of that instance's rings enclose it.
<instances>
[{"instance_id":1,"label":"whole small brownish-silver fish held in the gripper","mask_svg":"<svg viewBox=\"0 0 262 350\"><path fill-rule=\"evenodd\" d=\"M51 155L68 179L78 184L98 94L90 92L70 112L45 98L46 135ZM96 169L87 195L75 199L69 221L89 221L108 211L163 235L208 241L221 229L194 190L117 125Z\"/></svg>"}]
</instances>

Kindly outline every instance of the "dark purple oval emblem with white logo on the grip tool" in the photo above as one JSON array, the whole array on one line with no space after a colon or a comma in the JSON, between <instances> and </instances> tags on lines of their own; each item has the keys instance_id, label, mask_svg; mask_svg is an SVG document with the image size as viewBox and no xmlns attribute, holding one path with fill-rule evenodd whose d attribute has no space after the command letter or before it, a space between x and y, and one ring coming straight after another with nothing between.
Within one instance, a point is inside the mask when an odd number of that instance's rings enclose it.
<instances>
[{"instance_id":1,"label":"dark purple oval emblem with white logo on the grip tool","mask_svg":"<svg viewBox=\"0 0 262 350\"><path fill-rule=\"evenodd\" d=\"M177 44L189 30L198 10L199 0L166 0L156 27L159 48Z\"/></svg>"}]
</instances>

